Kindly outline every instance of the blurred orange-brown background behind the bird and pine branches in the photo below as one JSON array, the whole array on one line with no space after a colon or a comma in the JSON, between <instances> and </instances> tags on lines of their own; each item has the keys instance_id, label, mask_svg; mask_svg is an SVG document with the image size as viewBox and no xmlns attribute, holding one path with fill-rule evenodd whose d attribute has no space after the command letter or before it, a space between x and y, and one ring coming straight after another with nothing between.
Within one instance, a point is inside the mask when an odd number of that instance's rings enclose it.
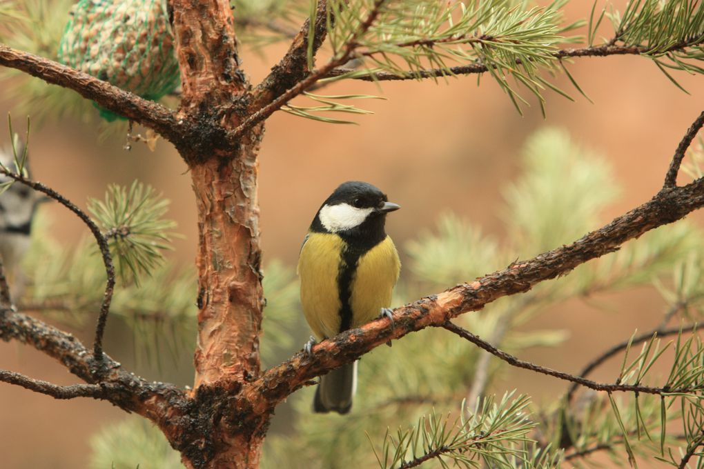
<instances>
[{"instance_id":1,"label":"blurred orange-brown background behind the bird and pine branches","mask_svg":"<svg viewBox=\"0 0 704 469\"><path fill-rule=\"evenodd\" d=\"M567 6L567 21L584 18L591 5L591 0L573 1ZM244 70L252 82L258 82L268 71L267 64L275 63L283 51L272 47L264 60L244 53ZM434 226L444 210L453 210L482 224L484 231L502 236L501 188L520 171L522 143L543 125L565 127L576 141L612 162L624 193L604 220L648 200L660 188L679 139L702 110L701 77L677 74L691 92L688 96L645 58L582 58L575 60L570 71L594 104L560 76L558 86L570 91L577 102L546 94L546 119L536 105L525 109L521 117L489 77L483 77L477 87L474 76L437 85L385 83L383 94L388 101L360 103L375 114L359 117L358 126L334 126L276 113L268 121L260 153L265 259L281 258L293 264L315 210L337 184L348 179L370 181L386 191L389 200L401 204L403 210L389 217L388 226L400 247L418 231ZM375 85L363 82L337 84L327 91L379 94ZM22 117L13 108L13 96L0 89L0 115L8 110ZM0 126L0 140L7 137L6 128ZM129 184L139 178L155 186L172 201L170 217L178 221L184 234L175 243L174 255L180 262L192 262L196 217L186 166L163 141L155 153L139 143L127 152L122 150L123 143L124 136L99 143L93 127L80 122L48 122L33 132L34 175L82 207L88 197L102 197L108 183ZM84 226L58 205L45 205L42 210L54 220L55 236L66 243L84 233ZM522 257L520 252L515 255ZM570 353L534 349L524 358L576 371L595 350L628 337L634 328L655 325L664 308L660 297L649 289L612 295L605 301L618 314L574 302L534 323L536 328L572 331ZM608 328L603 326L606 323ZM131 346L122 345L120 339L129 335L118 321L108 323L108 333L107 352L118 360L121 355L130 356ZM78 335L89 341L89 333L79 331ZM123 363L134 368L129 360ZM16 342L0 343L0 368L54 383L76 382L64 368ZM182 385L192 376L189 363L179 369L148 372L149 379ZM564 389L561 382L531 373L516 372L516 378L513 385L520 384L520 391L534 394L537 401L551 399ZM611 380L613 373L603 371L595 378ZM0 384L3 467L84 467L89 436L123 415L104 402L55 401Z\"/></svg>"}]
</instances>

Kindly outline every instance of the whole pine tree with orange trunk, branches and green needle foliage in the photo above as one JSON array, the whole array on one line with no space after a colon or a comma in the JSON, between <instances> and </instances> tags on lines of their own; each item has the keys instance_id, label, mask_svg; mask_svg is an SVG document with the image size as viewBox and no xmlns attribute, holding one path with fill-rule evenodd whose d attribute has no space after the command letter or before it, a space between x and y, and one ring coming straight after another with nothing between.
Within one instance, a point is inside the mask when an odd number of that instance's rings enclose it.
<instances>
[{"instance_id":1,"label":"whole pine tree with orange trunk, branches and green needle foliage","mask_svg":"<svg viewBox=\"0 0 704 469\"><path fill-rule=\"evenodd\" d=\"M275 360L272 342L292 343L289 324L298 314L293 269L261 264L257 158L267 118L282 110L340 124L349 120L339 113L367 113L365 100L377 96L325 94L343 80L441 82L476 75L494 80L522 112L529 96L543 108L546 90L570 98L553 83L560 73L583 94L569 68L584 57L640 56L676 86L676 72L704 72L698 1L640 0L623 11L594 4L572 25L562 22L563 6L83 0L64 30L54 18L68 11L66 0L1 2L0 65L4 78L13 77L4 89L22 96L28 110L51 103L51 118L94 116L96 105L107 120L123 117L130 130L132 122L150 129L134 139L169 141L189 167L199 250L195 275L165 259L175 227L153 188L110 186L84 212L32 181L25 151L13 146L15 167L0 167L8 178L3 187L22 184L57 200L91 238L70 255L46 240L37 243L21 297L11 296L0 275L0 338L57 359L84 384L54 385L13 371L0 371L0 380L57 399L102 399L133 413L96 436L95 467L552 468L589 465L599 451L631 465L654 457L702 467L702 233L679 220L704 205L704 150L692 144L704 113L681 139L662 189L599 229L601 210L618 193L609 166L562 131L536 133L524 148L522 176L505 189L508 240L447 214L406 246L413 278L398 288L396 304L405 306L394 310L393 321L372 321L321 342L310 356L298 352L262 370L262 360ZM612 28L602 40L607 22ZM572 35L578 31L584 37ZM239 44L274 41L287 41L287 53L251 84ZM154 101L160 99L177 110ZM681 166L691 177L685 185L677 184ZM516 252L535 257L516 259ZM670 304L662 324L624 338L577 375L515 356L564 339L554 330L517 332L547 307L649 283ZM418 300L428 288L442 293ZM36 310L65 321L99 311L92 347L24 312ZM193 389L139 378L111 359L103 349L111 316L163 338L165 347L193 347ZM262 329L276 339L265 338L260 347ZM389 340L394 347L379 347ZM268 431L284 399L360 356L367 399L354 413L309 416L306 390L291 397L294 413L307 415L294 420L294 436ZM613 356L622 362L617 379L590 380ZM653 370L663 364L669 372L657 375ZM492 383L510 366L572 384L551 406L532 404L519 392L494 395Z\"/></svg>"}]
</instances>

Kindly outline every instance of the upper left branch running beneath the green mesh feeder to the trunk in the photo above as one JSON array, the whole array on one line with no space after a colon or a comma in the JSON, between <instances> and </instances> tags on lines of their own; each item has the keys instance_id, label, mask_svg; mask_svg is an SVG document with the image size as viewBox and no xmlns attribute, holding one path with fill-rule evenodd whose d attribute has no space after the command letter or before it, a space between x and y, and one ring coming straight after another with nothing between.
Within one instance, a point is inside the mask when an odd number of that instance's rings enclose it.
<instances>
[{"instance_id":1,"label":"upper left branch running beneath the green mesh feeder to the trunk","mask_svg":"<svg viewBox=\"0 0 704 469\"><path fill-rule=\"evenodd\" d=\"M174 144L183 139L182 122L177 122L171 110L96 77L4 44L0 44L0 65L72 89L102 108L154 129Z\"/></svg>"}]
</instances>

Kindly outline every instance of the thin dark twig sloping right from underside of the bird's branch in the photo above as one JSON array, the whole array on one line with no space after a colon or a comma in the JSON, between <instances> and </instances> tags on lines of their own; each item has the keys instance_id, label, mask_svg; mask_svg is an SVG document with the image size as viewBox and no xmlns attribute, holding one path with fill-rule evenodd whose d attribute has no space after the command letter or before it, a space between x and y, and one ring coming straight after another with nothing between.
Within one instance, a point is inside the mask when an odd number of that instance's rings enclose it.
<instances>
[{"instance_id":1,"label":"thin dark twig sloping right from underside of the bird's branch","mask_svg":"<svg viewBox=\"0 0 704 469\"><path fill-rule=\"evenodd\" d=\"M590 389L593 389L595 391L606 391L606 392L641 392L643 394L667 394L670 392L681 392L681 393L690 393L690 392L696 392L699 389L679 389L679 390L665 390L662 387L650 387L650 386L641 386L641 385L622 385L622 384L603 384L603 383L596 383L596 381L592 380L587 380L585 378L581 378L579 376L575 375L570 375L570 373L565 373L563 371L556 371L551 368L546 368L545 366L540 366L531 363L530 361L524 361L521 359L517 359L515 356L508 354L506 352L503 352L503 350L499 350L494 345L491 345L489 342L485 342L484 340L480 339L477 337L477 335L474 335L470 333L469 330L466 330L464 328L461 328L460 326L457 326L456 324L453 324L451 322L445 323L443 328L449 330L452 333L455 333L456 335L459 335L461 338L465 340L469 340L472 342L474 345L477 345L477 347L482 348L486 350L486 352L489 352L490 354L498 357L499 359L502 359L506 363L510 364L511 366L515 366L516 368L524 368L525 370L530 370L530 371L535 371L536 373L541 373L543 375L548 375L548 376L553 376L555 378L559 378L560 380L566 380L566 381L571 381L572 383L579 383L579 385L589 387Z\"/></svg>"}]
</instances>

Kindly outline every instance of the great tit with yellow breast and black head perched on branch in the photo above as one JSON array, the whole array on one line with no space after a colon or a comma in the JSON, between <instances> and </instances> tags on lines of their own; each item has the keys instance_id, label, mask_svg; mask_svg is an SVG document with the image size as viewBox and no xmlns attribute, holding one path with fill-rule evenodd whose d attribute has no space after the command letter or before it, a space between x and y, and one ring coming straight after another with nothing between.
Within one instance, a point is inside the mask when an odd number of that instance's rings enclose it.
<instances>
[{"instance_id":1,"label":"great tit with yellow breast and black head perched on branch","mask_svg":"<svg viewBox=\"0 0 704 469\"><path fill-rule=\"evenodd\" d=\"M390 316L387 308L401 262L384 223L386 214L399 208L375 186L348 181L315 214L301 247L298 275L303 313L316 339L362 326L380 314ZM322 376L313 410L347 413L356 380L356 361Z\"/></svg>"}]
</instances>

